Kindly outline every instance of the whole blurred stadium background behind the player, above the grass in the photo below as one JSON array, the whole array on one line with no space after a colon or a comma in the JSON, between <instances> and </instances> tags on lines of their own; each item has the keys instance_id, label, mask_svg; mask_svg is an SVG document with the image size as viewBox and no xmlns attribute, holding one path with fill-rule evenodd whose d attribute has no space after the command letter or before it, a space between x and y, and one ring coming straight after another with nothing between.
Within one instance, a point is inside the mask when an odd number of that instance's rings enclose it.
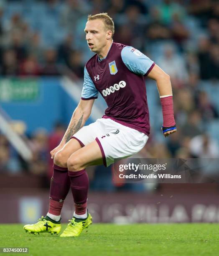
<instances>
[{"instance_id":1,"label":"whole blurred stadium background behind the player, above the grass","mask_svg":"<svg viewBox=\"0 0 219 256\"><path fill-rule=\"evenodd\" d=\"M160 133L156 85L147 80L151 135L138 157L219 157L219 2L214 0L0 0L0 201L2 223L34 222L48 210L52 160L79 99L89 13L107 12L114 41L171 75L178 132ZM96 100L87 123L101 117ZM218 184L115 184L91 167L95 222L219 222ZM62 218L73 213L72 196Z\"/></svg>"}]
</instances>

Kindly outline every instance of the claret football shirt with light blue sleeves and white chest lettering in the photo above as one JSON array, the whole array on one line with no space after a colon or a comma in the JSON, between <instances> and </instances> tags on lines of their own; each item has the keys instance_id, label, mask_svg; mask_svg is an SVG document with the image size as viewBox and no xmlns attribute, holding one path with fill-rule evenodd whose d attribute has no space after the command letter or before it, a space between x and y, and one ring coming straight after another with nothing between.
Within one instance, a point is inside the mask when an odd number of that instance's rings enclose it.
<instances>
[{"instance_id":1,"label":"claret football shirt with light blue sleeves and white chest lettering","mask_svg":"<svg viewBox=\"0 0 219 256\"><path fill-rule=\"evenodd\" d=\"M95 54L84 68L82 100L104 97L111 118L147 135L150 133L145 76L154 62L132 46L112 43L107 56Z\"/></svg>"}]
</instances>

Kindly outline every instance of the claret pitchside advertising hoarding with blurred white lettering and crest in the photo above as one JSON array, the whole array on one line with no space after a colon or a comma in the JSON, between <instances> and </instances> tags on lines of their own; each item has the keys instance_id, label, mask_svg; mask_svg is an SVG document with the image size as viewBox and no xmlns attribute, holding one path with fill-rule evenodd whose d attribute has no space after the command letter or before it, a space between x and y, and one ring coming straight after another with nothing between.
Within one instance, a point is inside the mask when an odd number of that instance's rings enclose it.
<instances>
[{"instance_id":1,"label":"claret pitchside advertising hoarding with blurred white lettering and crest","mask_svg":"<svg viewBox=\"0 0 219 256\"><path fill-rule=\"evenodd\" d=\"M48 212L48 191L1 192L2 223L35 223ZM88 209L94 223L188 223L219 222L218 195L147 193L90 193ZM72 218L71 193L64 202L62 221Z\"/></svg>"}]
</instances>

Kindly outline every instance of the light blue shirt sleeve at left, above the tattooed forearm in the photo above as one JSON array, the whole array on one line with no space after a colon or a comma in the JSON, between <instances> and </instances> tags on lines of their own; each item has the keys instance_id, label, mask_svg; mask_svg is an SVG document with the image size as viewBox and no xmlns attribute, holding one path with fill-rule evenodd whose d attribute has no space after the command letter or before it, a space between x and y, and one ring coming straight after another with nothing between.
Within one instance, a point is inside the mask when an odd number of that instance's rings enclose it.
<instances>
[{"instance_id":1,"label":"light blue shirt sleeve at left, above the tattooed forearm","mask_svg":"<svg viewBox=\"0 0 219 256\"><path fill-rule=\"evenodd\" d=\"M86 67L84 67L84 85L81 92L82 100L96 99L98 97L98 91L94 85L94 82L90 78Z\"/></svg>"}]
</instances>

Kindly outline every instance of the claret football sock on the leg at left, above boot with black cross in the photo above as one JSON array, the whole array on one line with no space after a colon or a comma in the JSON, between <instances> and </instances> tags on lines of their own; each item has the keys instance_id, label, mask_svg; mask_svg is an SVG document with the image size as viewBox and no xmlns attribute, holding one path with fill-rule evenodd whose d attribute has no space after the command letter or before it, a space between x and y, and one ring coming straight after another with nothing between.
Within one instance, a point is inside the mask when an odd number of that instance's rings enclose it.
<instances>
[{"instance_id":1,"label":"claret football sock on the leg at left, above boot with black cross","mask_svg":"<svg viewBox=\"0 0 219 256\"><path fill-rule=\"evenodd\" d=\"M57 220L61 214L61 209L64 204L64 200L70 189L70 179L68 175L68 169L57 166L53 166L53 177L51 178L50 185L50 202L48 213L49 217L53 220ZM53 216L58 216L53 217Z\"/></svg>"}]
</instances>

